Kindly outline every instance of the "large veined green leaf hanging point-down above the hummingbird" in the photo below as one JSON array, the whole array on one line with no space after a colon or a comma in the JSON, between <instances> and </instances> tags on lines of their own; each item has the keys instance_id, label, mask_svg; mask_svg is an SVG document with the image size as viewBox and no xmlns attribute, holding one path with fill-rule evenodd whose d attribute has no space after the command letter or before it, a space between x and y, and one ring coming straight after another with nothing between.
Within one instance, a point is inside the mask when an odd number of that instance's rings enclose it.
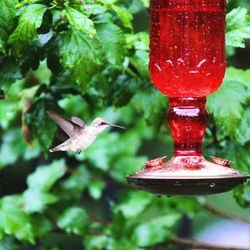
<instances>
[{"instance_id":1,"label":"large veined green leaf hanging point-down above the hummingbird","mask_svg":"<svg viewBox=\"0 0 250 250\"><path fill-rule=\"evenodd\" d=\"M60 39L61 64L69 69L79 89L85 93L89 81L99 70L99 44L83 32L71 30Z\"/></svg>"}]
</instances>

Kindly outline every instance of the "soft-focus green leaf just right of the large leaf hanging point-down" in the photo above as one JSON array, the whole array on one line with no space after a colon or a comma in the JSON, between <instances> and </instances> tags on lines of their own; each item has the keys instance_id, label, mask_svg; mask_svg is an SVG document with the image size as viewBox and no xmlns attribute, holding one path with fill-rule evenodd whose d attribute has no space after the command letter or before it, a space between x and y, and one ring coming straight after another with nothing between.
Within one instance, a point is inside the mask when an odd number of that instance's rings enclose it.
<instances>
[{"instance_id":1,"label":"soft-focus green leaf just right of the large leaf hanging point-down","mask_svg":"<svg viewBox=\"0 0 250 250\"><path fill-rule=\"evenodd\" d=\"M102 45L106 59L111 64L120 65L124 60L125 36L115 24L99 24L96 26L97 36Z\"/></svg>"}]
</instances>

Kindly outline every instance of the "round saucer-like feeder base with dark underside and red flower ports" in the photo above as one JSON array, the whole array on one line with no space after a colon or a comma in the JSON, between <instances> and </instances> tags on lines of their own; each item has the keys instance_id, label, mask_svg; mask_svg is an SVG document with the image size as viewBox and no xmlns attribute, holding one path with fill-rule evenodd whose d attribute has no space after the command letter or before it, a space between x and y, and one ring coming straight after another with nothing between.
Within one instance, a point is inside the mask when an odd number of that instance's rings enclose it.
<instances>
[{"instance_id":1,"label":"round saucer-like feeder base with dark underside and red flower ports","mask_svg":"<svg viewBox=\"0 0 250 250\"><path fill-rule=\"evenodd\" d=\"M230 167L228 160L202 156L165 157L145 163L145 168L127 177L133 186L156 195L211 195L229 191L250 178Z\"/></svg>"}]
</instances>

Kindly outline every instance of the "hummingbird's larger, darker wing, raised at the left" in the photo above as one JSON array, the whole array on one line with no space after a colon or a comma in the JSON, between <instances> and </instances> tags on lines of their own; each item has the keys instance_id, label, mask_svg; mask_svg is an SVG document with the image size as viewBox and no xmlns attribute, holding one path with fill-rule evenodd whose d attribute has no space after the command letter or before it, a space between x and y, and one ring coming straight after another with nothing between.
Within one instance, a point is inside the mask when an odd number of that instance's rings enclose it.
<instances>
[{"instance_id":1,"label":"hummingbird's larger, darker wing, raised at the left","mask_svg":"<svg viewBox=\"0 0 250 250\"><path fill-rule=\"evenodd\" d=\"M64 117L62 115L59 115L55 112L47 111L47 113L50 116L50 118L53 119L69 137L73 137L79 134L84 128L80 126L78 123L76 123L75 121L72 121L71 119Z\"/></svg>"}]
</instances>

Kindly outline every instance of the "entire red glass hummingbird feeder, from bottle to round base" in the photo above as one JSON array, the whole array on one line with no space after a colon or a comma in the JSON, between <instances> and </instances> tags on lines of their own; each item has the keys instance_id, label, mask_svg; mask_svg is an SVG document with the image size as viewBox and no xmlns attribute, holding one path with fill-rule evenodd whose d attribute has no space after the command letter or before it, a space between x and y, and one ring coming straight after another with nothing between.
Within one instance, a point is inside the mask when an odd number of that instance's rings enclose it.
<instances>
[{"instance_id":1,"label":"entire red glass hummingbird feeder, from bottle to round base","mask_svg":"<svg viewBox=\"0 0 250 250\"><path fill-rule=\"evenodd\" d=\"M228 191L246 181L228 160L202 156L208 123L206 96L224 78L226 0L151 0L150 75L169 97L174 156L158 158L129 176L129 183L159 195Z\"/></svg>"}]
</instances>

